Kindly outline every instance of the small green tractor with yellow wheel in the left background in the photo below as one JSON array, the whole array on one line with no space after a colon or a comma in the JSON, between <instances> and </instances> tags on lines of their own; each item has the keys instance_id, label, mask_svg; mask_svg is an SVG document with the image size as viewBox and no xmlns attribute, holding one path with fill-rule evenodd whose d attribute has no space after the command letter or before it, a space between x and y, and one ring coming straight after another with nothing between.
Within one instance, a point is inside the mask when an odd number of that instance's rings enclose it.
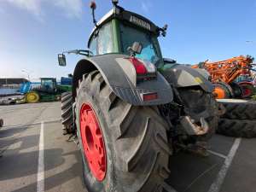
<instances>
[{"instance_id":1,"label":"small green tractor with yellow wheel in the left background","mask_svg":"<svg viewBox=\"0 0 256 192\"><path fill-rule=\"evenodd\" d=\"M25 95L25 101L35 102L54 102L61 98L61 93L71 90L71 86L57 84L55 78L41 78L39 87L33 88Z\"/></svg>"}]
</instances>

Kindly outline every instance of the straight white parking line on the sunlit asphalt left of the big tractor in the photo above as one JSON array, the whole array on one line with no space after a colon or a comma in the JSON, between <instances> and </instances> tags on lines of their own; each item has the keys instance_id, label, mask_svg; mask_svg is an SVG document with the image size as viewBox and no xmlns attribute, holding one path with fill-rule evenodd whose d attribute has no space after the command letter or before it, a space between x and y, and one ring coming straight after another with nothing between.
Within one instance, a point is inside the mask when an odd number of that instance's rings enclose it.
<instances>
[{"instance_id":1,"label":"straight white parking line on the sunlit asphalt left of the big tractor","mask_svg":"<svg viewBox=\"0 0 256 192\"><path fill-rule=\"evenodd\" d=\"M41 122L38 155L38 186L37 192L44 192L44 121Z\"/></svg>"}]
</instances>

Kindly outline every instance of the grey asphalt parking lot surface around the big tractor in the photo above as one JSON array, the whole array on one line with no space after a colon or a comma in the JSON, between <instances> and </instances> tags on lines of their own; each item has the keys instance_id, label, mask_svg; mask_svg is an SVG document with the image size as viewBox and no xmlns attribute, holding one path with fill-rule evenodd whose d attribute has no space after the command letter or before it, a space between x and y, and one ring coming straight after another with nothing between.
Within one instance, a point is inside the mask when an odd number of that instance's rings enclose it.
<instances>
[{"instance_id":1,"label":"grey asphalt parking lot surface around the big tractor","mask_svg":"<svg viewBox=\"0 0 256 192\"><path fill-rule=\"evenodd\" d=\"M61 132L61 103L0 106L1 192L86 192L79 148ZM216 135L210 155L170 158L166 191L255 192L256 139Z\"/></svg>"}]
</instances>

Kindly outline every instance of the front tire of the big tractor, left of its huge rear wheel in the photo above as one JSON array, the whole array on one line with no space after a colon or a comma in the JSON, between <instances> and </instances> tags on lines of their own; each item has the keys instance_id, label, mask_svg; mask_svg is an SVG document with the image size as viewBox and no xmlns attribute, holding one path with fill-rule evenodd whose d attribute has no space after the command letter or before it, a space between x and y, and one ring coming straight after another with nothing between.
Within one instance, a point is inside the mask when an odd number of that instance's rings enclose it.
<instances>
[{"instance_id":1,"label":"front tire of the big tractor, left of its huge rear wheel","mask_svg":"<svg viewBox=\"0 0 256 192\"><path fill-rule=\"evenodd\" d=\"M61 94L61 123L64 135L74 132L73 97L71 92L65 92Z\"/></svg>"}]
</instances>

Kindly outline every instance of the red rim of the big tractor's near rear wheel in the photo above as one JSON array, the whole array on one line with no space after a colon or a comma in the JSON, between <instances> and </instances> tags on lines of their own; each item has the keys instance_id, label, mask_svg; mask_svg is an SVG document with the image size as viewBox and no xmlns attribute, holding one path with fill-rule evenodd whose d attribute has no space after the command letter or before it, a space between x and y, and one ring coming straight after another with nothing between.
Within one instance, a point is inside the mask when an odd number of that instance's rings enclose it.
<instances>
[{"instance_id":1,"label":"red rim of the big tractor's near rear wheel","mask_svg":"<svg viewBox=\"0 0 256 192\"><path fill-rule=\"evenodd\" d=\"M84 156L90 171L98 181L103 181L107 172L107 157L101 126L90 104L80 109L80 133Z\"/></svg>"}]
</instances>

